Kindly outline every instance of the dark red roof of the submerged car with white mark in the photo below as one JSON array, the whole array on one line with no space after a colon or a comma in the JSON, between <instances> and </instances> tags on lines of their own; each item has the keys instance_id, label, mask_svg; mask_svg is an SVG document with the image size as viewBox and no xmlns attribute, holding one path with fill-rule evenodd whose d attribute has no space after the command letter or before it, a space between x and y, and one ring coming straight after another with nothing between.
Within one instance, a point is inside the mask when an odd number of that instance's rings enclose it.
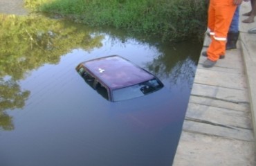
<instances>
[{"instance_id":1,"label":"dark red roof of the submerged car with white mark","mask_svg":"<svg viewBox=\"0 0 256 166\"><path fill-rule=\"evenodd\" d=\"M151 73L118 55L92 59L82 62L82 65L110 89L120 89L154 78Z\"/></svg>"}]
</instances>

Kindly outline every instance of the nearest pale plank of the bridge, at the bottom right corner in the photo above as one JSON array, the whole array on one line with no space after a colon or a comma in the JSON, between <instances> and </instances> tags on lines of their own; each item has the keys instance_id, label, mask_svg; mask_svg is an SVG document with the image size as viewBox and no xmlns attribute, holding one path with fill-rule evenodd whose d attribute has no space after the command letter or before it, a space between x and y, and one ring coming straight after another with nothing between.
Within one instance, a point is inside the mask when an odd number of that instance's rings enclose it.
<instances>
[{"instance_id":1,"label":"nearest pale plank of the bridge, at the bottom right corner","mask_svg":"<svg viewBox=\"0 0 256 166\"><path fill-rule=\"evenodd\" d=\"M183 131L174 164L180 166L254 166L253 142ZM199 143L197 143L199 142ZM218 147L218 148L212 148Z\"/></svg>"}]
</instances>

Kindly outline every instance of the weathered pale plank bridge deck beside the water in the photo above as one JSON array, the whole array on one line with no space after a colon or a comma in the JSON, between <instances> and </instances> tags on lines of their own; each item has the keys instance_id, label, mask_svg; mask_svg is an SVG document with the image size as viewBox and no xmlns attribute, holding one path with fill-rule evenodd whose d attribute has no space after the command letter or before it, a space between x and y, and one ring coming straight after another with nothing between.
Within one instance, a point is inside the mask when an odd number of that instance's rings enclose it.
<instances>
[{"instance_id":1,"label":"weathered pale plank bridge deck beside the water","mask_svg":"<svg viewBox=\"0 0 256 166\"><path fill-rule=\"evenodd\" d=\"M212 68L199 59L175 166L256 165L256 34L248 34L256 23L241 23L249 11L250 2L243 2L237 49Z\"/></svg>"}]
</instances>

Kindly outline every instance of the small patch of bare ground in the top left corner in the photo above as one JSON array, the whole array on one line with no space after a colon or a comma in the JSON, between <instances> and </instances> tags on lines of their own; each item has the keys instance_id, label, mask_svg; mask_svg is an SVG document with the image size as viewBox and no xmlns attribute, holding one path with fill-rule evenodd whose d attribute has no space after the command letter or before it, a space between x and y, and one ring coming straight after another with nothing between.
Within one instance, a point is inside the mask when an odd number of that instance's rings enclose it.
<instances>
[{"instance_id":1,"label":"small patch of bare ground in the top left corner","mask_svg":"<svg viewBox=\"0 0 256 166\"><path fill-rule=\"evenodd\" d=\"M24 0L0 0L0 13L9 15L27 15Z\"/></svg>"}]
</instances>

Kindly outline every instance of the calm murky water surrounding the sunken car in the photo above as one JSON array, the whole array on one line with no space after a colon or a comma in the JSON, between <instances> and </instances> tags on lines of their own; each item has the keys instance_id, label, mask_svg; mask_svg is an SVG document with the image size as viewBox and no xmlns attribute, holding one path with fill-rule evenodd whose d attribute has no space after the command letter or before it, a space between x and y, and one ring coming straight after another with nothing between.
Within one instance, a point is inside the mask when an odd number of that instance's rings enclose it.
<instances>
[{"instance_id":1,"label":"calm murky water surrounding the sunken car","mask_svg":"<svg viewBox=\"0 0 256 166\"><path fill-rule=\"evenodd\" d=\"M201 44L41 16L0 19L0 165L172 165ZM154 73L169 104L102 98L75 67L106 55Z\"/></svg>"}]
</instances>

